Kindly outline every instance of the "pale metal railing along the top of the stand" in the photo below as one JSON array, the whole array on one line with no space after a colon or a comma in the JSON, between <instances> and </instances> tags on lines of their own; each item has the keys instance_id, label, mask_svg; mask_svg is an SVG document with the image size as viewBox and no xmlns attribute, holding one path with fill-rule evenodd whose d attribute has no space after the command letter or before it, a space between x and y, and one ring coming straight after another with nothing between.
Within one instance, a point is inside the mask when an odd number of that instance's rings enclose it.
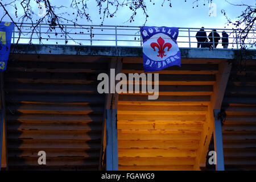
<instances>
[{"instance_id":1,"label":"pale metal railing along the top of the stand","mask_svg":"<svg viewBox=\"0 0 256 182\"><path fill-rule=\"evenodd\" d=\"M18 25L20 25L18 23ZM130 46L142 47L142 37L137 26L97 26L97 25L80 25L63 24L61 27L49 28L49 24L39 24L32 34L32 24L24 23L21 26L22 34L19 43L33 44L60 44L60 45L84 45L84 46ZM237 38L237 31L233 29L214 28L222 37L222 31L229 35L228 48L238 49L240 43ZM213 28L204 28L207 37L212 32L212 40L214 40ZM179 36L177 44L179 47L197 48L196 33L200 28L179 28ZM13 43L19 38L18 28L14 28ZM245 44L250 45L255 42L255 34L249 32ZM201 42L203 43L203 42ZM205 43L205 42L204 42ZM222 42L208 42L208 46L212 44L213 48L222 48ZM217 45L216 45L217 44Z\"/></svg>"}]
</instances>

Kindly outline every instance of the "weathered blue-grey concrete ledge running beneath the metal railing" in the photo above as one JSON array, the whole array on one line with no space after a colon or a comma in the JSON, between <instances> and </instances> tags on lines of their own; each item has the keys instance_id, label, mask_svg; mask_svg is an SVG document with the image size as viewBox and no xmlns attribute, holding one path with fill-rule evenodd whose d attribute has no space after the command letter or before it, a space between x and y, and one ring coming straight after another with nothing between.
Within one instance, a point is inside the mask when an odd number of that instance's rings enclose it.
<instances>
[{"instance_id":1,"label":"weathered blue-grey concrete ledge running beneath the metal railing","mask_svg":"<svg viewBox=\"0 0 256 182\"><path fill-rule=\"evenodd\" d=\"M142 57L142 47L114 46L60 46L60 45L12 45L11 52L25 54L88 55L88 56L133 56ZM181 57L214 59L256 59L256 50L180 48ZM246 55L246 56L245 56Z\"/></svg>"}]
</instances>

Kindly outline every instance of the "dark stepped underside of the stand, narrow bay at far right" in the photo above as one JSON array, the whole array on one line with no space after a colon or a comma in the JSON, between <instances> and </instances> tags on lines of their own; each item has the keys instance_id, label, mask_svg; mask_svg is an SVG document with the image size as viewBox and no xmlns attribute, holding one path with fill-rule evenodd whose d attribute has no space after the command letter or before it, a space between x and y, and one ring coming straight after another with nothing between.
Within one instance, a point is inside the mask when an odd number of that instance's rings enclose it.
<instances>
[{"instance_id":1,"label":"dark stepped underside of the stand, narrow bay at far right","mask_svg":"<svg viewBox=\"0 0 256 182\"><path fill-rule=\"evenodd\" d=\"M226 121L222 126L225 170L256 169L255 60L245 70L232 68L222 103Z\"/></svg>"}]
</instances>

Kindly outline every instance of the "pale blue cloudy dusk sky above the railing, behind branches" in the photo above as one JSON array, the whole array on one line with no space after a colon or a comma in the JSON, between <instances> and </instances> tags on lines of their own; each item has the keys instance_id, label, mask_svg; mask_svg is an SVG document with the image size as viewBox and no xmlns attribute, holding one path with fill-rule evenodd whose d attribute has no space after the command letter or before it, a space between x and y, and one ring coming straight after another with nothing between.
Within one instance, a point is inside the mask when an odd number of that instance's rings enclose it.
<instances>
[{"instance_id":1,"label":"pale blue cloudy dusk sky above the railing, behind branches","mask_svg":"<svg viewBox=\"0 0 256 182\"><path fill-rule=\"evenodd\" d=\"M4 2L9 2L7 0L3 0ZM18 1L20 2L20 1ZM32 1L31 6L34 9L35 15L34 19L38 19L38 5L36 5L35 1ZM205 28L232 28L232 26L227 26L226 18L223 14L221 14L221 10L224 9L228 17L232 20L236 19L238 15L241 15L242 10L245 7L242 6L233 6L233 4L246 4L246 5L256 5L256 0L229 0L228 3L225 0L213 0L213 3L216 5L216 14L209 16L209 4L207 0L201 0L199 2L195 2L195 0L172 0L172 7L169 6L169 1L166 0L164 6L162 7L162 0L150 2L147 0L147 12L148 12L148 21L146 22L146 26L167 26L167 27L192 27L199 28L204 26ZM195 3L193 3L195 2ZM68 14L74 12L70 7L71 1L63 1L63 0L55 0L51 1L52 5L65 6L61 12L65 11ZM152 5L155 3L155 5ZM205 3L205 6L204 6ZM213 6L215 6L213 5ZM19 3L17 3L18 10L20 9ZM198 7L197 7L198 6ZM194 8L193 8L194 7ZM11 15L14 16L15 9L14 7L7 7L9 9ZM89 0L88 1L88 13L92 17L93 22L88 22L85 19L78 19L77 23L79 24L93 24L100 25L101 19L98 14L98 9L96 6L96 1ZM0 14L3 15L3 10L0 8ZM2 16L1 15L1 16ZM104 25L115 25L115 26L142 26L145 20L145 16L142 11L137 11L137 15L135 16L135 21L130 23L127 22L131 15L131 11L129 7L121 7L119 8L116 16L113 18L106 18L104 21ZM22 11L18 11L18 17L22 16ZM68 19L72 19L72 16L65 15ZM15 18L14 18L15 19ZM7 16L3 19L4 21L10 21ZM16 22L19 22L18 19L15 19ZM67 24L67 22L64 22ZM134 39L134 38L133 38Z\"/></svg>"}]
</instances>

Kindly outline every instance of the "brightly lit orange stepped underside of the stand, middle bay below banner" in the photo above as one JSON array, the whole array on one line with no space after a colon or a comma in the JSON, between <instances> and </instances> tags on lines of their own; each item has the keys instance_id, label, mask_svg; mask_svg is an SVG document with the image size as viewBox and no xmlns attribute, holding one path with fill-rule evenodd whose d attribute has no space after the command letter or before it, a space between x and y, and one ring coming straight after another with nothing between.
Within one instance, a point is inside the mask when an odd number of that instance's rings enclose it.
<instances>
[{"instance_id":1,"label":"brightly lit orange stepped underside of the stand, middle bay below banner","mask_svg":"<svg viewBox=\"0 0 256 182\"><path fill-rule=\"evenodd\" d=\"M159 98L119 94L119 170L193 170L220 60L181 59L159 73ZM143 73L124 57L122 73ZM140 83L141 84L141 83Z\"/></svg>"}]
</instances>

